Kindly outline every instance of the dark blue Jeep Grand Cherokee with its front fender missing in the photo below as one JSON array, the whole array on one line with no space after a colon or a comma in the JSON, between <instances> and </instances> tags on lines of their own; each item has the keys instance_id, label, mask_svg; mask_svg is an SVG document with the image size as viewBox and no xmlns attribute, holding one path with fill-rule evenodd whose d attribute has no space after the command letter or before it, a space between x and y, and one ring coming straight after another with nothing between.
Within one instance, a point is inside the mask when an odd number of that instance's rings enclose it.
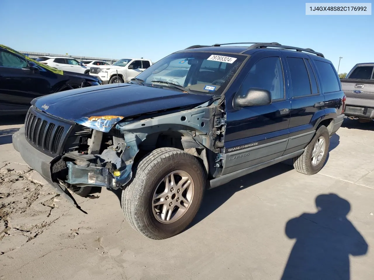
<instances>
[{"instance_id":1,"label":"dark blue Jeep Grand Cherokee with its front fender missing","mask_svg":"<svg viewBox=\"0 0 374 280\"><path fill-rule=\"evenodd\" d=\"M34 99L13 146L73 203L72 193L122 189L129 224L164 239L190 224L206 189L291 158L318 172L344 100L311 49L192 46L130 83Z\"/></svg>"}]
</instances>

